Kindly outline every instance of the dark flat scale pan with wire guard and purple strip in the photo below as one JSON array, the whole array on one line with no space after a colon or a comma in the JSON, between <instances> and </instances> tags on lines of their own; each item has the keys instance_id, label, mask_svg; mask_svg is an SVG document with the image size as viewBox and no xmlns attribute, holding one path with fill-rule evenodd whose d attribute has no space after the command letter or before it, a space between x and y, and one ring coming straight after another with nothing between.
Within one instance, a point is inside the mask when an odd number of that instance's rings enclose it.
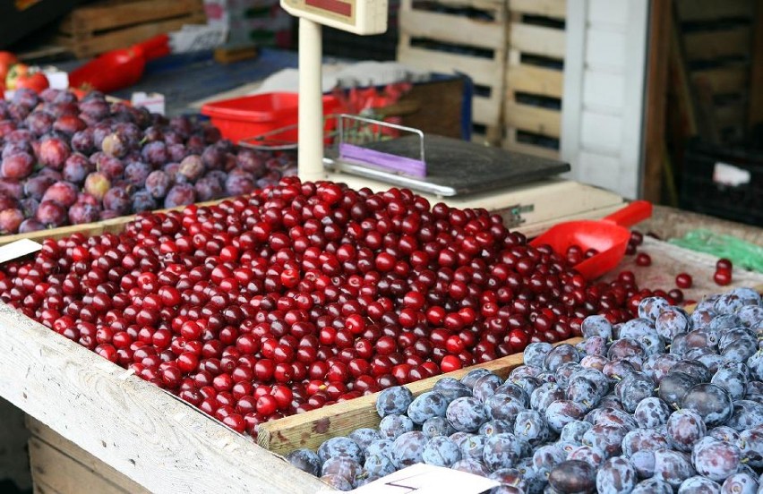
<instances>
[{"instance_id":1,"label":"dark flat scale pan with wire guard and purple strip","mask_svg":"<svg viewBox=\"0 0 763 494\"><path fill-rule=\"evenodd\" d=\"M407 135L379 140L380 132L364 138L348 134L347 124L390 127ZM335 171L407 187L441 197L453 197L536 182L570 171L570 164L505 149L480 146L355 115L339 115L339 143L327 149L324 164Z\"/></svg>"}]
</instances>

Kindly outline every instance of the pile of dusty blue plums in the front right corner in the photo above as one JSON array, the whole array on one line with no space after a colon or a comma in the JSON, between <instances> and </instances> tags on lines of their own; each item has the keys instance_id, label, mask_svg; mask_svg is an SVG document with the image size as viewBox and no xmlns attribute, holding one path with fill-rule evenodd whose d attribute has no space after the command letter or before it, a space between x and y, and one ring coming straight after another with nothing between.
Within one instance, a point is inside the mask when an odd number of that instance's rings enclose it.
<instances>
[{"instance_id":1,"label":"pile of dusty blue plums in the front right corner","mask_svg":"<svg viewBox=\"0 0 763 494\"><path fill-rule=\"evenodd\" d=\"M763 305L733 289L690 315L660 297L639 318L583 321L579 345L533 343L414 398L388 388L378 430L287 459L339 490L411 464L501 482L492 494L763 492Z\"/></svg>"}]
</instances>

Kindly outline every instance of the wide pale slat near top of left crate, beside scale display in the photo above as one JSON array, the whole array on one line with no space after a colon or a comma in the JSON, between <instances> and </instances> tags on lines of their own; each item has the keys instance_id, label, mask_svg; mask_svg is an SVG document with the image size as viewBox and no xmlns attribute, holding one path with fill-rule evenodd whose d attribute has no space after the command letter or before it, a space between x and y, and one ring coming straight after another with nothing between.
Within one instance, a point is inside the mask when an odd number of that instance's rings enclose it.
<instances>
[{"instance_id":1,"label":"wide pale slat near top of left crate, beside scale display","mask_svg":"<svg viewBox=\"0 0 763 494\"><path fill-rule=\"evenodd\" d=\"M401 10L400 30L412 38L428 38L446 43L502 49L506 29L502 21L479 21L461 15Z\"/></svg>"}]
</instances>

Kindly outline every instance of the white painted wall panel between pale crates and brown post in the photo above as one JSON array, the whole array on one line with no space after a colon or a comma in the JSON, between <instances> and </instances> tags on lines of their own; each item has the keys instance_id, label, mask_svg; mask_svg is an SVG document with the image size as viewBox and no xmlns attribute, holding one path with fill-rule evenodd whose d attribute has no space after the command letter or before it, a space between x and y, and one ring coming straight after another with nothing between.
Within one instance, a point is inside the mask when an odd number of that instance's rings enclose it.
<instances>
[{"instance_id":1,"label":"white painted wall panel between pale crates and brown post","mask_svg":"<svg viewBox=\"0 0 763 494\"><path fill-rule=\"evenodd\" d=\"M647 0L568 0L562 158L570 177L637 198Z\"/></svg>"}]
</instances>

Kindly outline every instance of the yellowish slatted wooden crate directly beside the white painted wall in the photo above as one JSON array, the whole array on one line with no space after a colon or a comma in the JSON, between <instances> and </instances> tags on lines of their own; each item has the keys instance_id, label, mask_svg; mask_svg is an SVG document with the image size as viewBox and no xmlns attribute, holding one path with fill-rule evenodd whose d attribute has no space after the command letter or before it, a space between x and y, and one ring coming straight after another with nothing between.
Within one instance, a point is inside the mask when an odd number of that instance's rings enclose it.
<instances>
[{"instance_id":1,"label":"yellowish slatted wooden crate directly beside the white painted wall","mask_svg":"<svg viewBox=\"0 0 763 494\"><path fill-rule=\"evenodd\" d=\"M566 0L510 0L503 147L559 158Z\"/></svg>"}]
</instances>

